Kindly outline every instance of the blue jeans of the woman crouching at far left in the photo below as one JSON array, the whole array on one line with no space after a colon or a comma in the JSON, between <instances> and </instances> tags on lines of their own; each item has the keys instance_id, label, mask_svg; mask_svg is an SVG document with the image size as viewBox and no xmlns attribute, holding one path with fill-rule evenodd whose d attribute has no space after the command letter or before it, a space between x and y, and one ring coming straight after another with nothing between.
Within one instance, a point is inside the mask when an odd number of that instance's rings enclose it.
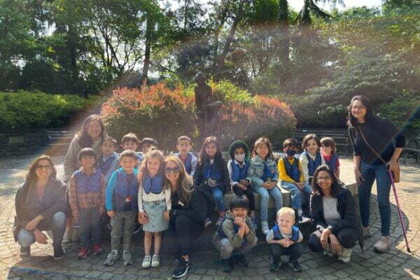
<instances>
[{"instance_id":1,"label":"blue jeans of the woman crouching at far left","mask_svg":"<svg viewBox=\"0 0 420 280\"><path fill-rule=\"evenodd\" d=\"M52 230L52 246L54 246L54 248L61 247L64 231L66 231L66 214L57 212L52 216L50 223L45 225L45 228L40 228L39 230ZM19 230L18 243L20 246L27 248L35 243L35 241L34 232L25 230L25 228Z\"/></svg>"}]
</instances>

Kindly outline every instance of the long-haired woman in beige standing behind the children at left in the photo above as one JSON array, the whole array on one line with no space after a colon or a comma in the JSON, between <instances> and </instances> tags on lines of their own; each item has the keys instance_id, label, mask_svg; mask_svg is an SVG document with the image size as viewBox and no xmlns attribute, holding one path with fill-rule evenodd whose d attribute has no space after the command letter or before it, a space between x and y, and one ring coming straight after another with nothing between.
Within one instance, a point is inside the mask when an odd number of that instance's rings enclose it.
<instances>
[{"instance_id":1,"label":"long-haired woman in beige standing behind the children at left","mask_svg":"<svg viewBox=\"0 0 420 280\"><path fill-rule=\"evenodd\" d=\"M94 153L96 154L97 158L99 158L101 153L101 145L102 141L107 137L105 133L104 123L102 123L101 118L99 115L90 115L83 121L82 127L80 130L74 135L73 139L71 140L69 150L67 151L66 156L64 157L64 181L68 182L73 175L73 172L80 168L80 162L78 160L78 153L83 148L92 148ZM73 234L73 218L71 217L71 211L69 203L67 203L67 210L66 214L69 218L67 221L67 231L66 237L64 240L77 241L78 240L78 232L75 231Z\"/></svg>"}]
</instances>

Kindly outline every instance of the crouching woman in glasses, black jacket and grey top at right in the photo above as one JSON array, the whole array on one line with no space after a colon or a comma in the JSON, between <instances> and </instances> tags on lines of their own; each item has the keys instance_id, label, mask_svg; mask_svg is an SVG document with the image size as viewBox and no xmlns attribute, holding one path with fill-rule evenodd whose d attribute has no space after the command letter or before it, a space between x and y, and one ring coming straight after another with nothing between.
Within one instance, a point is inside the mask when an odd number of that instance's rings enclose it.
<instances>
[{"instance_id":1,"label":"crouching woman in glasses, black jacket and grey top at right","mask_svg":"<svg viewBox=\"0 0 420 280\"><path fill-rule=\"evenodd\" d=\"M312 192L310 209L316 231L309 237L309 248L314 252L324 250L330 256L336 254L338 260L350 262L351 248L362 238L350 191L339 185L328 166L321 165L315 170Z\"/></svg>"}]
</instances>

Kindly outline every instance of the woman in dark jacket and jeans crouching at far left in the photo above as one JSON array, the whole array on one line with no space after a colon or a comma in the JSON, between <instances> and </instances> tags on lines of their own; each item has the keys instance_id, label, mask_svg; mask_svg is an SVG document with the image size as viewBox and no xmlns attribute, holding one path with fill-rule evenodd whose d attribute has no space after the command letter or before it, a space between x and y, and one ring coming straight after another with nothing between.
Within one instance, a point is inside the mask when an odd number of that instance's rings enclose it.
<instances>
[{"instance_id":1,"label":"woman in dark jacket and jeans crouching at far left","mask_svg":"<svg viewBox=\"0 0 420 280\"><path fill-rule=\"evenodd\" d=\"M29 167L27 179L15 197L13 235L20 244L20 256L31 255L31 244L47 244L42 230L52 230L54 258L62 258L62 239L66 230L66 185L56 179L57 172L48 155L41 155Z\"/></svg>"}]
</instances>

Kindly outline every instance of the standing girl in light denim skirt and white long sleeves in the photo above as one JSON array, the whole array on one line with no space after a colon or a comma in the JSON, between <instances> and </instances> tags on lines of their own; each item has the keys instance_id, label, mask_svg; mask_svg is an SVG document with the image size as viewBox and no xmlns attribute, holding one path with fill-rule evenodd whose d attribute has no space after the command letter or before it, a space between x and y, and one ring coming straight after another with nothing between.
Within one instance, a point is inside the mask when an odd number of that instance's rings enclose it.
<instances>
[{"instance_id":1,"label":"standing girl in light denim skirt and white long sleeves","mask_svg":"<svg viewBox=\"0 0 420 280\"><path fill-rule=\"evenodd\" d=\"M139 223L144 230L144 259L141 267L159 267L161 233L169 228L171 188L165 184L165 156L161 151L149 151L139 171ZM152 238L155 251L151 258Z\"/></svg>"}]
</instances>

